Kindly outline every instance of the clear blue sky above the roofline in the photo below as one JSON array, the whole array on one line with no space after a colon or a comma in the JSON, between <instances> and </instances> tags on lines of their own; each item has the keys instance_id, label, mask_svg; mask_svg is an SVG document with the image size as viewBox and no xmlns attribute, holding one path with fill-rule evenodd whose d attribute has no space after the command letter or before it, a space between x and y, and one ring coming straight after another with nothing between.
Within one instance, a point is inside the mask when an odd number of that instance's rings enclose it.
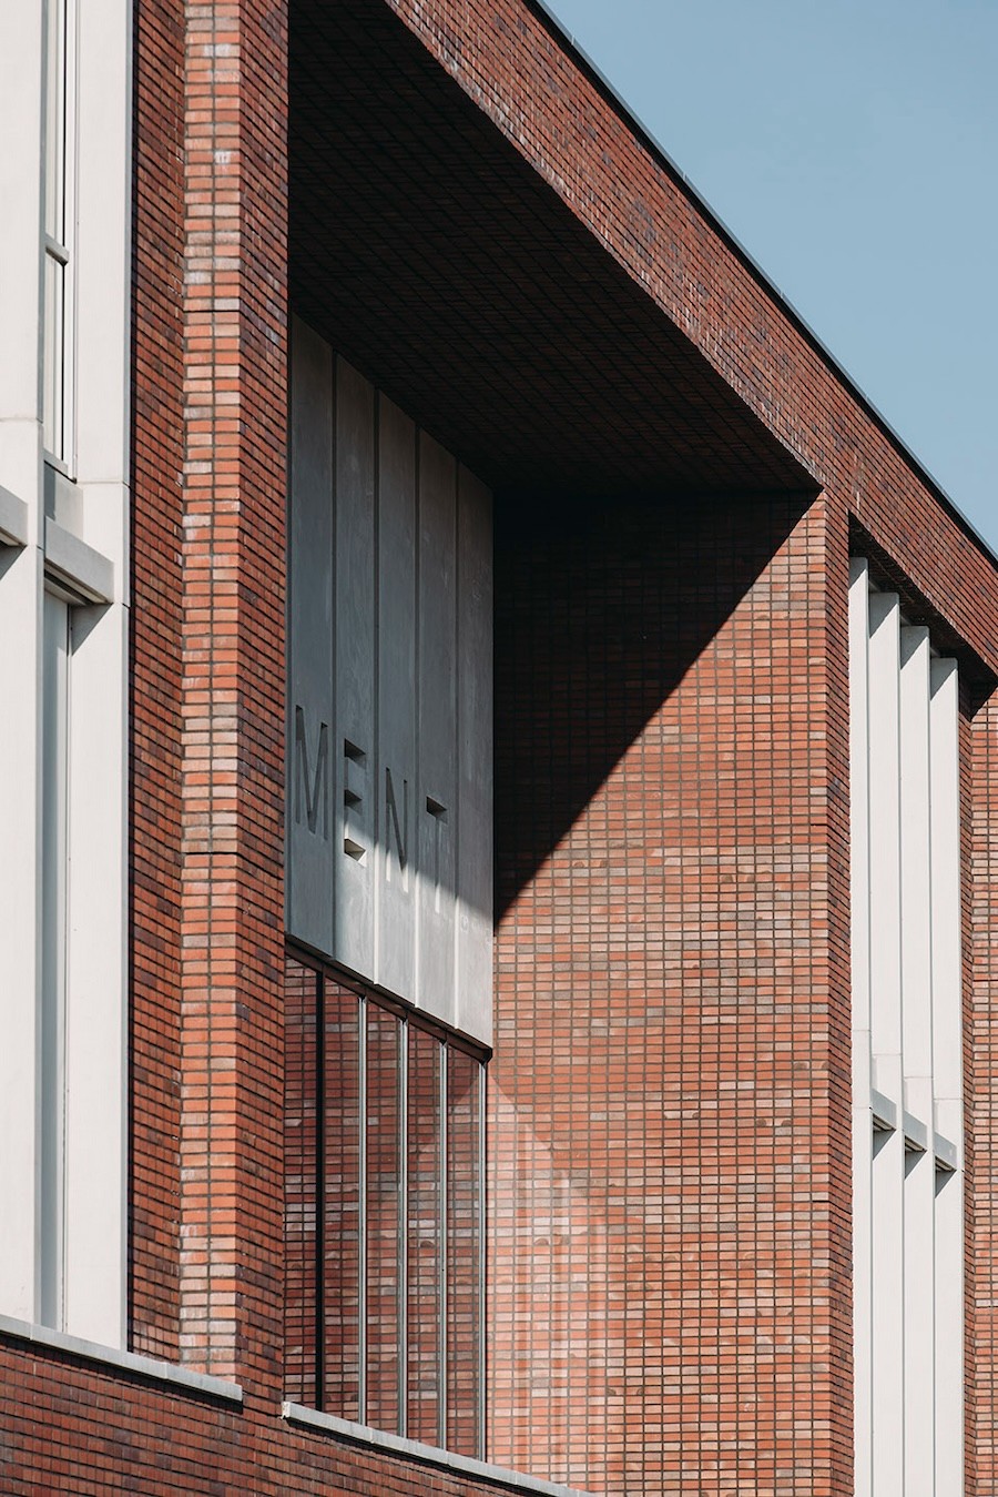
<instances>
[{"instance_id":1,"label":"clear blue sky above the roofline","mask_svg":"<svg viewBox=\"0 0 998 1497\"><path fill-rule=\"evenodd\" d=\"M998 0L548 0L998 548Z\"/></svg>"}]
</instances>

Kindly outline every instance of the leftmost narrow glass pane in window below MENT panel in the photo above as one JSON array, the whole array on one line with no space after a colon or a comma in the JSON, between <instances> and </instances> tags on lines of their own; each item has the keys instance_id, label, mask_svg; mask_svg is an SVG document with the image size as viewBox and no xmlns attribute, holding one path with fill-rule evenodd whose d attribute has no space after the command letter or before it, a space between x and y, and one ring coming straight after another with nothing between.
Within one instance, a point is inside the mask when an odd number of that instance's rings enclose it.
<instances>
[{"instance_id":1,"label":"leftmost narrow glass pane in window below MENT panel","mask_svg":"<svg viewBox=\"0 0 998 1497\"><path fill-rule=\"evenodd\" d=\"M284 1377L316 1406L319 1356L319 975L284 967Z\"/></svg>"}]
</instances>

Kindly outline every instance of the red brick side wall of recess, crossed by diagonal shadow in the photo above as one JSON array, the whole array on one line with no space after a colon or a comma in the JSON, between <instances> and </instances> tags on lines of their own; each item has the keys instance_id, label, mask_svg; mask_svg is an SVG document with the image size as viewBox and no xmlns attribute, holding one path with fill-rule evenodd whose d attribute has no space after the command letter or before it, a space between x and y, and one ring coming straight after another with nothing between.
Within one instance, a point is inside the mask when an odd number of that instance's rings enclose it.
<instances>
[{"instance_id":1,"label":"red brick side wall of recess, crossed by diagonal shadow","mask_svg":"<svg viewBox=\"0 0 998 1497\"><path fill-rule=\"evenodd\" d=\"M503 536L503 1464L851 1491L844 521L733 499Z\"/></svg>"}]
</instances>

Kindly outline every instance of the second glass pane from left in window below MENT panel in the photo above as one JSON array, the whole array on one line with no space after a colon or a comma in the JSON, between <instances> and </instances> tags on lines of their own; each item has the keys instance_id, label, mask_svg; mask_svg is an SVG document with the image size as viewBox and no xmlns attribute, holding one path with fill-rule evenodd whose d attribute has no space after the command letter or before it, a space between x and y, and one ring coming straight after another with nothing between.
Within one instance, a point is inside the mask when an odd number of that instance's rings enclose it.
<instances>
[{"instance_id":1,"label":"second glass pane from left in window below MENT panel","mask_svg":"<svg viewBox=\"0 0 998 1497\"><path fill-rule=\"evenodd\" d=\"M361 1418L361 1066L359 1001L323 981L323 1337L322 1407Z\"/></svg>"}]
</instances>

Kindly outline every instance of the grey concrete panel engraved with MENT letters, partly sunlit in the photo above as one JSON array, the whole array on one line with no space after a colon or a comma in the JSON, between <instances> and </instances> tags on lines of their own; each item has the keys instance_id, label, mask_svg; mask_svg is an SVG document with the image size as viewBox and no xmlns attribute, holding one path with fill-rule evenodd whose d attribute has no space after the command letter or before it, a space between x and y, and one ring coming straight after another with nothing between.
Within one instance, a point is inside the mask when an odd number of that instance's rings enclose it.
<instances>
[{"instance_id":1,"label":"grey concrete panel engraved with MENT letters, partly sunlit","mask_svg":"<svg viewBox=\"0 0 998 1497\"><path fill-rule=\"evenodd\" d=\"M289 934L489 1040L491 496L296 323L289 509Z\"/></svg>"}]
</instances>

